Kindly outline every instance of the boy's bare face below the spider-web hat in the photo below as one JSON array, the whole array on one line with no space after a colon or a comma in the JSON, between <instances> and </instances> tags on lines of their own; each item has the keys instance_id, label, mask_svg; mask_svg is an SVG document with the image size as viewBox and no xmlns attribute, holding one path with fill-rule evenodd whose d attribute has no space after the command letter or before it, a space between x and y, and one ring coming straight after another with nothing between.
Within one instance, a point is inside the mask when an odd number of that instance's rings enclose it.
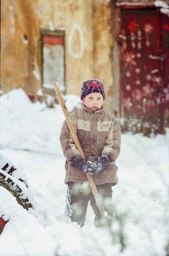
<instances>
[{"instance_id":1,"label":"boy's bare face below the spider-web hat","mask_svg":"<svg viewBox=\"0 0 169 256\"><path fill-rule=\"evenodd\" d=\"M99 92L92 92L90 94L88 94L87 96L85 96L81 102L87 107L92 109L94 112L97 109L100 109L104 100L103 100L103 96L101 93Z\"/></svg>"}]
</instances>

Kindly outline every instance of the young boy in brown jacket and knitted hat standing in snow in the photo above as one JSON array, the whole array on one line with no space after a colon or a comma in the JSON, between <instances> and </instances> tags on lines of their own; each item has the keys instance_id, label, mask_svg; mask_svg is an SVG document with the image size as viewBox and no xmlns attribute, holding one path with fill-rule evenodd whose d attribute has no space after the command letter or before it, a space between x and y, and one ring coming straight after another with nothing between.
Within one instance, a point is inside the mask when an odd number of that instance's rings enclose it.
<instances>
[{"instance_id":1,"label":"young boy in brown jacket and knitted hat standing in snow","mask_svg":"<svg viewBox=\"0 0 169 256\"><path fill-rule=\"evenodd\" d=\"M121 130L116 117L103 110L105 93L102 82L90 79L83 82L81 89L83 108L72 112L70 117L85 159L81 158L76 149L66 120L60 134L60 143L66 157L66 214L72 222L75 221L82 227L90 201L95 213L94 224L98 226L101 214L88 185L86 173L93 175L100 197L111 200L111 187L117 184L115 161L120 153ZM104 208L112 215L106 204Z\"/></svg>"}]
</instances>

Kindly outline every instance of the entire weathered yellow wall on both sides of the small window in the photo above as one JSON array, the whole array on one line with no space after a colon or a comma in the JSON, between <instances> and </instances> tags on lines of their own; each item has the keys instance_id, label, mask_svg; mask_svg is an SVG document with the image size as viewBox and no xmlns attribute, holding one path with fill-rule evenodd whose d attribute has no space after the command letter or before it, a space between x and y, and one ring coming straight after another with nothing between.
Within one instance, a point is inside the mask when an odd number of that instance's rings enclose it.
<instances>
[{"instance_id":1,"label":"entire weathered yellow wall on both sides of the small window","mask_svg":"<svg viewBox=\"0 0 169 256\"><path fill-rule=\"evenodd\" d=\"M66 93L100 79L112 87L111 8L107 0L1 1L1 89L41 88L40 29L65 30Z\"/></svg>"}]
</instances>

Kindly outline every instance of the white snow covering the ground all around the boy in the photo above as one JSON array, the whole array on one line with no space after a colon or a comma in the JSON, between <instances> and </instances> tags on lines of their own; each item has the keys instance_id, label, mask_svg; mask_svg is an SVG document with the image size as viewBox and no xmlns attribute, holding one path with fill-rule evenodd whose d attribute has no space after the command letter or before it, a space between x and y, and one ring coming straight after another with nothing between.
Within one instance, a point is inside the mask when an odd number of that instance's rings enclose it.
<instances>
[{"instance_id":1,"label":"white snow covering the ground all around the boy","mask_svg":"<svg viewBox=\"0 0 169 256\"><path fill-rule=\"evenodd\" d=\"M65 101L69 111L80 106L75 95L67 95ZM166 256L168 129L166 135L151 138L122 135L111 229L93 225L90 206L80 228L64 216L67 186L59 136L65 118L60 105L50 109L45 103L32 103L22 89L2 95L0 104L1 160L10 159L18 168L14 179L23 169L34 206L26 211L0 186L0 216L9 220L0 235L1 256ZM123 252L119 230L125 237Z\"/></svg>"}]
</instances>

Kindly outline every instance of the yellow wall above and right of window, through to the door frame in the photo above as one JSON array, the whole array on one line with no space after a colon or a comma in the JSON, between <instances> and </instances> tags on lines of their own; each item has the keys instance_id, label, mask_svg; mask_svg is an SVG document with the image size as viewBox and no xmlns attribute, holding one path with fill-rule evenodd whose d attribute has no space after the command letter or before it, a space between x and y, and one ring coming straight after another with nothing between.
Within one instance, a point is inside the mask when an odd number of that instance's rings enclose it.
<instances>
[{"instance_id":1,"label":"yellow wall above and right of window, through to the door frame","mask_svg":"<svg viewBox=\"0 0 169 256\"><path fill-rule=\"evenodd\" d=\"M108 1L51 0L50 6L49 1L38 1L39 26L45 29L50 23L65 29L66 93L79 95L82 82L90 78L102 80L108 91L112 85Z\"/></svg>"}]
</instances>

